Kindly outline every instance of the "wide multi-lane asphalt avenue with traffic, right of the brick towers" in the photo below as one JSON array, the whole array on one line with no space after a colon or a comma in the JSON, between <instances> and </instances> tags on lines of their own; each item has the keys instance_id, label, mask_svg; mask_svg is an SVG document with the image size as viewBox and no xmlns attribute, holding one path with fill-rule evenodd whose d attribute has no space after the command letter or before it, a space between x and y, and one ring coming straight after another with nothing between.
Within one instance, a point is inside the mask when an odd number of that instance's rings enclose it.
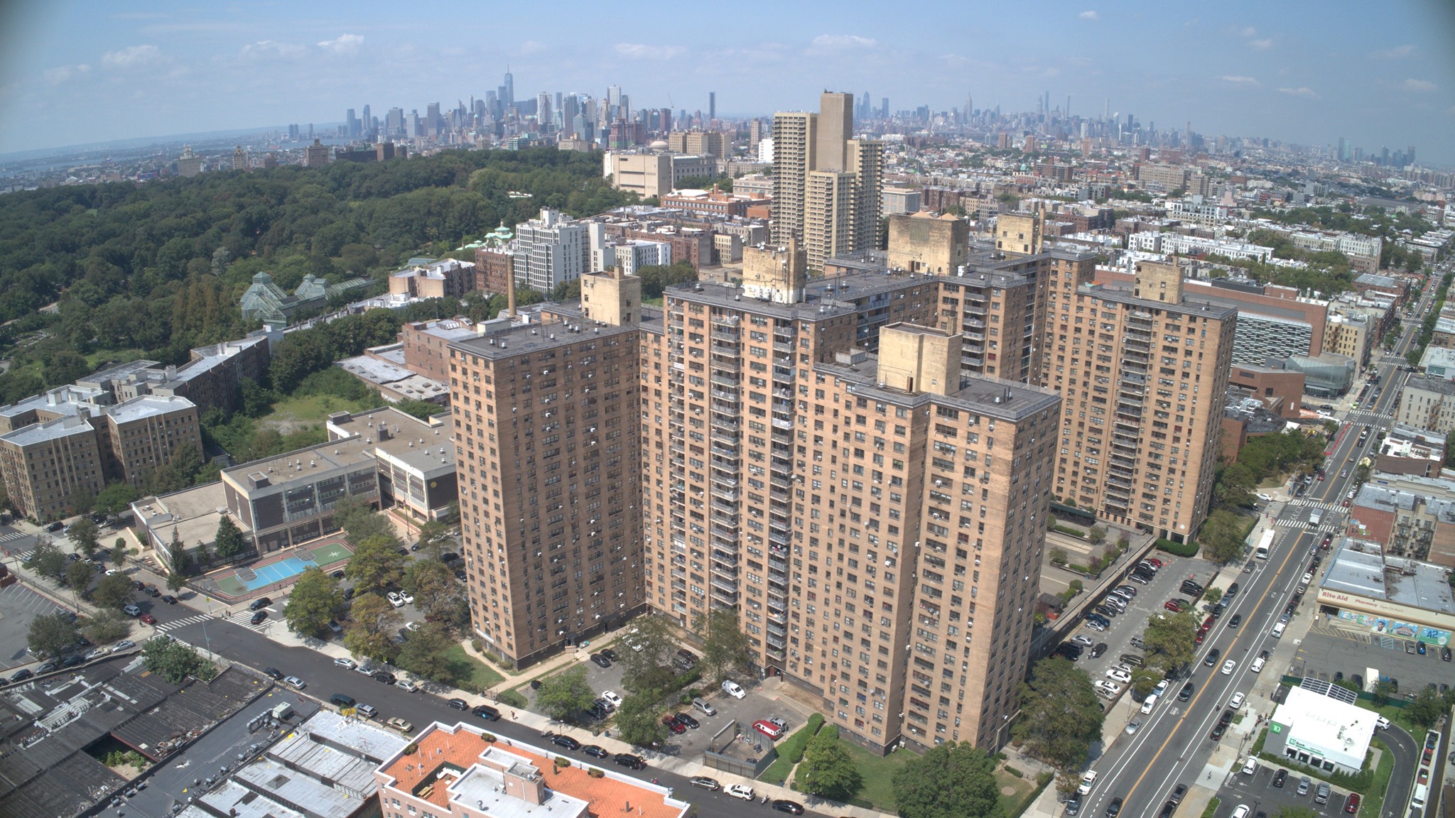
<instances>
[{"instance_id":1,"label":"wide multi-lane asphalt avenue with traffic, right of the brick towers","mask_svg":"<svg viewBox=\"0 0 1455 818\"><path fill-rule=\"evenodd\" d=\"M1423 304L1422 300L1422 309ZM1394 349L1395 355L1408 348L1417 329L1416 322L1406 326L1400 344ZM1199 664L1193 667L1192 674L1195 684L1192 699L1181 703L1176 700L1176 694L1164 697L1151 715L1139 716L1142 726L1135 736L1113 744L1110 751L1094 766L1101 773L1101 783L1083 805L1083 815L1101 815L1107 802L1115 796L1125 799L1123 814L1155 815L1179 783L1222 785L1222 782L1206 780L1203 774L1203 767L1218 747L1218 742L1209 738L1209 732L1232 693L1247 691L1256 681L1250 670L1251 658L1259 651L1272 651L1276 646L1277 642L1270 636L1270 629L1285 605L1289 604L1299 578L1308 569L1310 555L1318 547L1324 533L1342 528L1344 511L1340 507L1347 491L1353 488L1355 466L1378 444L1378 435L1371 434L1363 447L1356 445L1359 440L1358 425L1369 424L1376 429L1388 425L1388 416L1392 413L1404 386L1406 374L1394 365L1395 360L1391 355L1378 364L1378 374L1372 378L1379 390L1375 406L1363 406L1362 410L1350 412L1346 418L1327 458L1327 477L1315 480L1304 498L1273 507L1277 536L1270 559L1260 563L1254 573L1244 575L1244 579L1240 581L1238 597L1213 627L1209 639L1199 648ZM1349 476L1340 477L1340 472L1346 467ZM1324 508L1318 528L1307 525L1311 507ZM1337 511L1331 511L1334 508ZM1314 604L1312 598L1305 600L1304 604ZM1229 630L1225 624L1232 614L1243 614L1243 626L1237 630ZM1202 658L1213 648L1222 654L1218 661L1219 667L1208 668L1202 664ZM1221 672L1221 662L1225 659L1237 661L1235 668L1228 675ZM1263 672L1279 672L1279 668L1267 667ZM1174 683L1171 688L1180 687L1181 681ZM1254 709L1266 715L1272 710L1272 703L1257 702ZM1395 789L1398 782L1403 782L1404 792L1408 792L1413 767L1398 753L1395 757L1391 792L1398 792ZM1216 779L1216 773L1209 771L1209 774ZM1205 780L1196 782L1197 777Z\"/></svg>"}]
</instances>

